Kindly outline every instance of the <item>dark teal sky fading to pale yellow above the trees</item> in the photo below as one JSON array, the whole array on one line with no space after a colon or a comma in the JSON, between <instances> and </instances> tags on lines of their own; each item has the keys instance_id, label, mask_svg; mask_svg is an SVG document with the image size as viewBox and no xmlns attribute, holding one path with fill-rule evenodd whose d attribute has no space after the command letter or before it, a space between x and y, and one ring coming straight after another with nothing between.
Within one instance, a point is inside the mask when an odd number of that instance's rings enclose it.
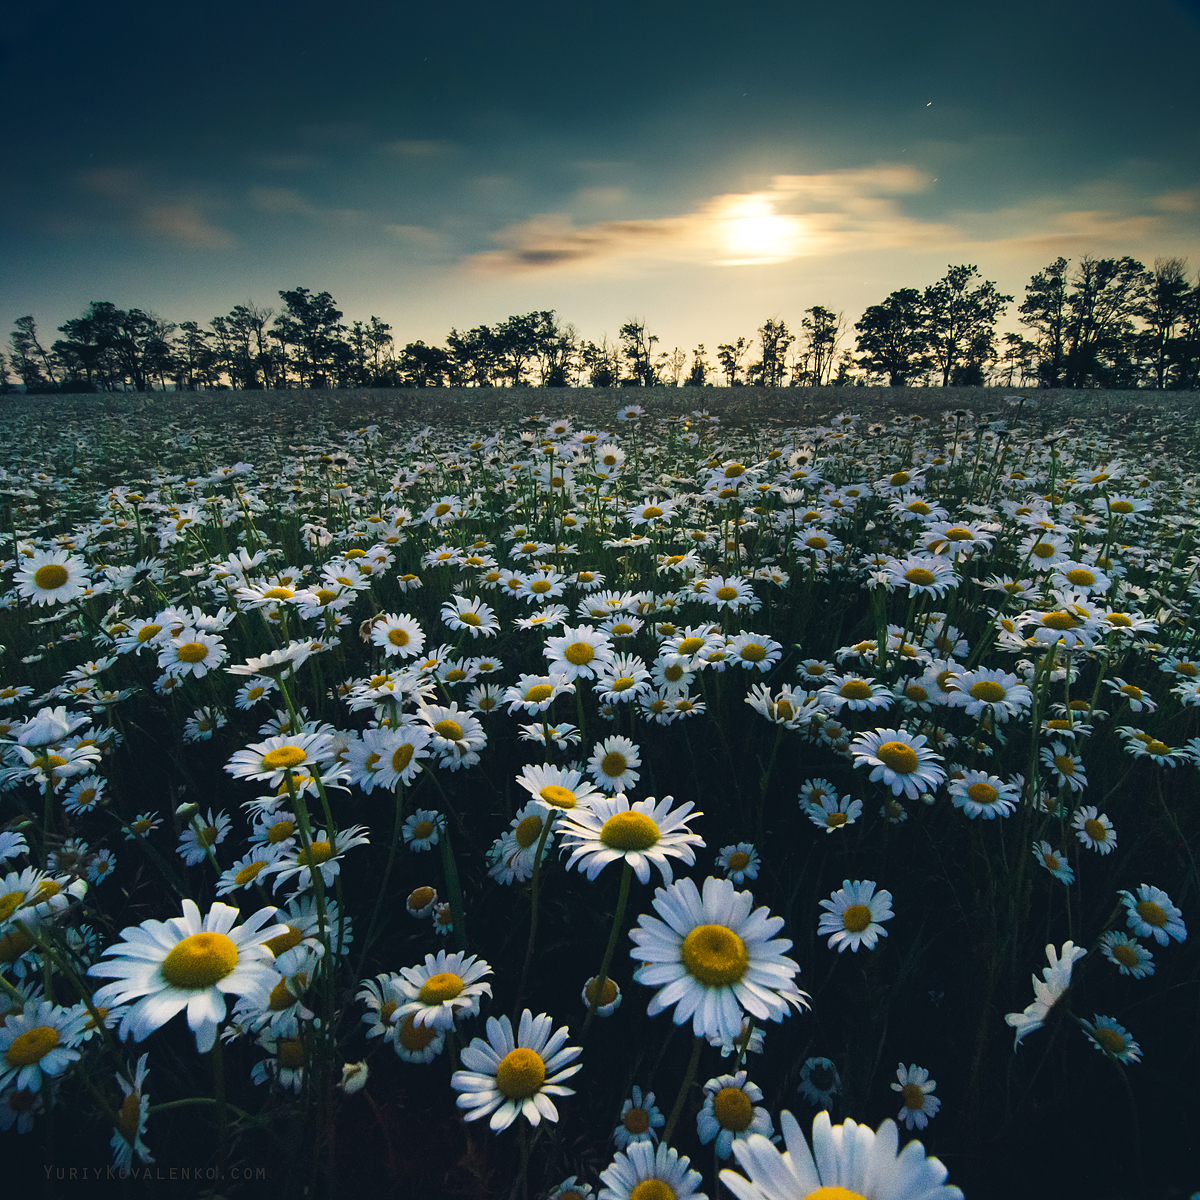
<instances>
[{"instance_id":1,"label":"dark teal sky fading to pale yellow above the trees","mask_svg":"<svg viewBox=\"0 0 1200 1200\"><path fill-rule=\"evenodd\" d=\"M1196 0L24 0L0 338L330 292L397 344L553 308L709 359L971 263L1200 270Z\"/></svg>"}]
</instances>

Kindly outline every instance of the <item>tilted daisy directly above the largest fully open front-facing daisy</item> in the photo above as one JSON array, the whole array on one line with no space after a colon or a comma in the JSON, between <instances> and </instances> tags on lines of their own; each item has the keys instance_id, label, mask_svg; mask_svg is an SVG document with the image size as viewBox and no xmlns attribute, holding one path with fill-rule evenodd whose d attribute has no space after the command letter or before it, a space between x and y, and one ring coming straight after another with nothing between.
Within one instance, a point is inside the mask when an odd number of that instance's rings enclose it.
<instances>
[{"instance_id":1,"label":"tilted daisy directly above the largest fully open front-facing daisy","mask_svg":"<svg viewBox=\"0 0 1200 1200\"><path fill-rule=\"evenodd\" d=\"M596 796L588 808L563 814L558 829L564 848L571 850L566 869L578 865L594 880L608 863L624 859L638 882L649 883L650 866L656 866L662 882L672 878L668 858L679 858L689 866L696 862L692 846L704 841L688 828L692 802L672 810L674 798L656 800L648 796L630 804L624 792L613 797ZM697 812L695 816L702 816Z\"/></svg>"}]
</instances>

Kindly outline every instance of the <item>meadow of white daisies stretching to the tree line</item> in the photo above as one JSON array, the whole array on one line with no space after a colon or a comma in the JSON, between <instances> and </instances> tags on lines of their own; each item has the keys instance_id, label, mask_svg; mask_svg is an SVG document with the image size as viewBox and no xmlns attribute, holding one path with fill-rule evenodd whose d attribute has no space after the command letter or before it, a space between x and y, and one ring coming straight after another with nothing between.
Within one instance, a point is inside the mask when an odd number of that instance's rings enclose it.
<instances>
[{"instance_id":1,"label":"meadow of white daisies stretching to the tree line","mask_svg":"<svg viewBox=\"0 0 1200 1200\"><path fill-rule=\"evenodd\" d=\"M1194 407L842 391L12 402L10 1170L1200 1189Z\"/></svg>"}]
</instances>

